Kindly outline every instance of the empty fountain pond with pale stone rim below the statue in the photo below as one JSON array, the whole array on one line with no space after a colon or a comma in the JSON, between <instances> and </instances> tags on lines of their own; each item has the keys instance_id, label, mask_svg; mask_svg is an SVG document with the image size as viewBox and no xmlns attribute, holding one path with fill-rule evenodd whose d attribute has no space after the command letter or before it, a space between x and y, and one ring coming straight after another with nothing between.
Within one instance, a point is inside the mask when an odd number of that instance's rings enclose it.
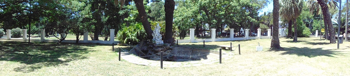
<instances>
[{"instance_id":1,"label":"empty fountain pond with pale stone rim below the statue","mask_svg":"<svg viewBox=\"0 0 350 76\"><path fill-rule=\"evenodd\" d=\"M158 51L130 51L124 53L124 56L128 56L129 59L125 60L134 64L160 66L161 53ZM200 66L215 62L219 62L219 51L215 50L176 46L163 51L163 65L165 67Z\"/></svg>"}]
</instances>

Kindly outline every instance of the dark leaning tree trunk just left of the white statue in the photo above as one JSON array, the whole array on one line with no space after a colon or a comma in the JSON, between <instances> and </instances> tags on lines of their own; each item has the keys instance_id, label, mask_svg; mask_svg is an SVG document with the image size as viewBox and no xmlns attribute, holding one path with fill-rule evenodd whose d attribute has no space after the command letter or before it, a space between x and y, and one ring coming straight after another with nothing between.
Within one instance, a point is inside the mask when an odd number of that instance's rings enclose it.
<instances>
[{"instance_id":1,"label":"dark leaning tree trunk just left of the white statue","mask_svg":"<svg viewBox=\"0 0 350 76\"><path fill-rule=\"evenodd\" d=\"M153 31L152 31L151 26L149 25L149 22L148 22L147 13L146 13L145 6L144 6L144 0L134 0L134 2L135 2L135 6L139 12L139 17L141 18L141 23L145 28L147 38L148 38L148 40L152 40L153 39L153 36L152 36Z\"/></svg>"}]
</instances>

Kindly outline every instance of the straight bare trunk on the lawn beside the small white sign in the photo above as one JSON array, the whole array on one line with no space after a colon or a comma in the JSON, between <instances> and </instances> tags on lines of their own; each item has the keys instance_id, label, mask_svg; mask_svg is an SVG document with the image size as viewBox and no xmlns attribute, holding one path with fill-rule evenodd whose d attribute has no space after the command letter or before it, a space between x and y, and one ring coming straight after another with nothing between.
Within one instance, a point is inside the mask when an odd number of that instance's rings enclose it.
<instances>
[{"instance_id":1,"label":"straight bare trunk on the lawn beside the small white sign","mask_svg":"<svg viewBox=\"0 0 350 76\"><path fill-rule=\"evenodd\" d=\"M280 46L280 39L278 38L278 17L279 17L279 3L278 0L273 0L273 29L270 50L283 49Z\"/></svg>"}]
</instances>

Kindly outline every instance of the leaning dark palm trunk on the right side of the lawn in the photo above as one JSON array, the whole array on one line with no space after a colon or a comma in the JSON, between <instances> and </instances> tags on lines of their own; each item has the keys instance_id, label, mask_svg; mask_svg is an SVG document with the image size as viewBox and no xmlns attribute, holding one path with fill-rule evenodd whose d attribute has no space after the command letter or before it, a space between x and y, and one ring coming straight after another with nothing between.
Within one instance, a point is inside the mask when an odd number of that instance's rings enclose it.
<instances>
[{"instance_id":1,"label":"leaning dark palm trunk on the right side of the lawn","mask_svg":"<svg viewBox=\"0 0 350 76\"><path fill-rule=\"evenodd\" d=\"M327 3L324 2L323 0L317 0L317 3L320 4L320 6L322 7L321 9L322 9L323 17L325 19L325 23L327 23L327 25L328 25L329 43L336 43L335 32L334 32L334 28L332 26L331 17L329 14L329 9L328 9Z\"/></svg>"}]
</instances>

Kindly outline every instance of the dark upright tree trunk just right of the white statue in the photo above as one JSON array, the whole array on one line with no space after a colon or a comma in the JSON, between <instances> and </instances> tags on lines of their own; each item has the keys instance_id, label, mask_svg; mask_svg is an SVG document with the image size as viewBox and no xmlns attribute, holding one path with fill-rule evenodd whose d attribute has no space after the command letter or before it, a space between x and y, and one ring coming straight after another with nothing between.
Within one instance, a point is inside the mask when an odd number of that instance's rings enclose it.
<instances>
[{"instance_id":1,"label":"dark upright tree trunk just right of the white statue","mask_svg":"<svg viewBox=\"0 0 350 76\"><path fill-rule=\"evenodd\" d=\"M174 44L173 39L173 19L174 19L174 0L165 0L164 11L165 11L165 38L164 43Z\"/></svg>"}]
</instances>

